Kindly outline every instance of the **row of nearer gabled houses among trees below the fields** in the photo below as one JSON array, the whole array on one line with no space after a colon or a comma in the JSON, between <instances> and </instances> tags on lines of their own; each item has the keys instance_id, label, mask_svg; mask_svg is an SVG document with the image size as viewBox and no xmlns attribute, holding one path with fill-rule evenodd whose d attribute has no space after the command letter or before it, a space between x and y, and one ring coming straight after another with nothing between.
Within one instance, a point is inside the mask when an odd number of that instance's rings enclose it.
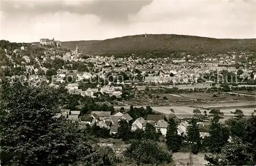
<instances>
[{"instance_id":1,"label":"row of nearer gabled houses among trees below the fields","mask_svg":"<svg viewBox=\"0 0 256 166\"><path fill-rule=\"evenodd\" d=\"M69 109L61 109L61 114L58 114L56 117L60 117L61 115L66 117L73 122L77 121L81 125L97 125L101 128L110 129L110 134L116 134L118 132L119 121L125 120L127 123L131 122L133 118L127 113L118 112L114 115L111 115L111 112L102 112L102 111L92 111L88 116L81 116L80 111L72 111ZM166 121L166 115L147 115L146 119L142 117L136 119L131 126L131 131L136 131L137 129L145 130L146 124L151 124L156 128L156 131L160 131L163 136L166 135L168 122ZM205 124L204 122L198 123L199 128L207 128L209 123ZM177 132L179 135L187 135L188 123L186 121L180 122L177 128ZM201 131L200 135L202 137L209 136L209 133L206 130Z\"/></svg>"}]
</instances>

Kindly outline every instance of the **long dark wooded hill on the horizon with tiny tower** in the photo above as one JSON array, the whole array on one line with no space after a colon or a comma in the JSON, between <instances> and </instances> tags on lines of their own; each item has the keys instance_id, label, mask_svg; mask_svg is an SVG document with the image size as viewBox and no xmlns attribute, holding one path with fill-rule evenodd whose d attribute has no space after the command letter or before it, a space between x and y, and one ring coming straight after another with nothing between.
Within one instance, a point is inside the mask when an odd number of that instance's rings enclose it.
<instances>
[{"instance_id":1,"label":"long dark wooded hill on the horizon with tiny tower","mask_svg":"<svg viewBox=\"0 0 256 166\"><path fill-rule=\"evenodd\" d=\"M256 39L215 39L186 35L134 35L97 41L66 41L62 47L78 49L89 54L145 54L189 52L226 53L227 51L255 51ZM85 46L85 47L84 47Z\"/></svg>"}]
</instances>

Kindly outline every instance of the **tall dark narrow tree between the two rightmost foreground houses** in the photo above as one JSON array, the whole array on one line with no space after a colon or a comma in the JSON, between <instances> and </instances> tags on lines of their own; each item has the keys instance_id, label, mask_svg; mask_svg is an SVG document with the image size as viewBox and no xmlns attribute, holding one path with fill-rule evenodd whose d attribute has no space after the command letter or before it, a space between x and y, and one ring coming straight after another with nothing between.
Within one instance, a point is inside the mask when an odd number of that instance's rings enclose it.
<instances>
[{"instance_id":1,"label":"tall dark narrow tree between the two rightmost foreground houses","mask_svg":"<svg viewBox=\"0 0 256 166\"><path fill-rule=\"evenodd\" d=\"M187 141L197 143L192 145L192 152L197 154L201 146L201 137L199 133L199 128L197 124L197 119L192 118L188 121L189 126L187 126Z\"/></svg>"}]
</instances>

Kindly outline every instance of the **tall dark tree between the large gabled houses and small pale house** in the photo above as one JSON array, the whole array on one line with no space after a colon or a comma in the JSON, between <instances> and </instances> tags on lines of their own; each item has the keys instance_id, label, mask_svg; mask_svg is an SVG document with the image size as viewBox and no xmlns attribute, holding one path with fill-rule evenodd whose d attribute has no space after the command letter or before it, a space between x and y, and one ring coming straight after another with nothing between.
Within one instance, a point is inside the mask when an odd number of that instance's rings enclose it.
<instances>
[{"instance_id":1,"label":"tall dark tree between the large gabled houses and small pale house","mask_svg":"<svg viewBox=\"0 0 256 166\"><path fill-rule=\"evenodd\" d=\"M166 132L166 145L172 152L178 152L181 146L181 136L178 135L178 122L175 118L168 120L168 127Z\"/></svg>"}]
</instances>

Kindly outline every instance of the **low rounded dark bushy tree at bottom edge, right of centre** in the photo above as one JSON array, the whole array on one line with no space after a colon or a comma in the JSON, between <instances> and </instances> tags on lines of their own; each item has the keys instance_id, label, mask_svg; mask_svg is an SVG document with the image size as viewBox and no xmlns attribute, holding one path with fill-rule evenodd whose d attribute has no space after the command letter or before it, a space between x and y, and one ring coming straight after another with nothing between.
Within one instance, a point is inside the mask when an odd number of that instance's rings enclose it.
<instances>
[{"instance_id":1,"label":"low rounded dark bushy tree at bottom edge, right of centre","mask_svg":"<svg viewBox=\"0 0 256 166\"><path fill-rule=\"evenodd\" d=\"M125 155L137 161L138 164L172 163L172 154L159 147L153 140L136 140L125 151Z\"/></svg>"}]
</instances>

